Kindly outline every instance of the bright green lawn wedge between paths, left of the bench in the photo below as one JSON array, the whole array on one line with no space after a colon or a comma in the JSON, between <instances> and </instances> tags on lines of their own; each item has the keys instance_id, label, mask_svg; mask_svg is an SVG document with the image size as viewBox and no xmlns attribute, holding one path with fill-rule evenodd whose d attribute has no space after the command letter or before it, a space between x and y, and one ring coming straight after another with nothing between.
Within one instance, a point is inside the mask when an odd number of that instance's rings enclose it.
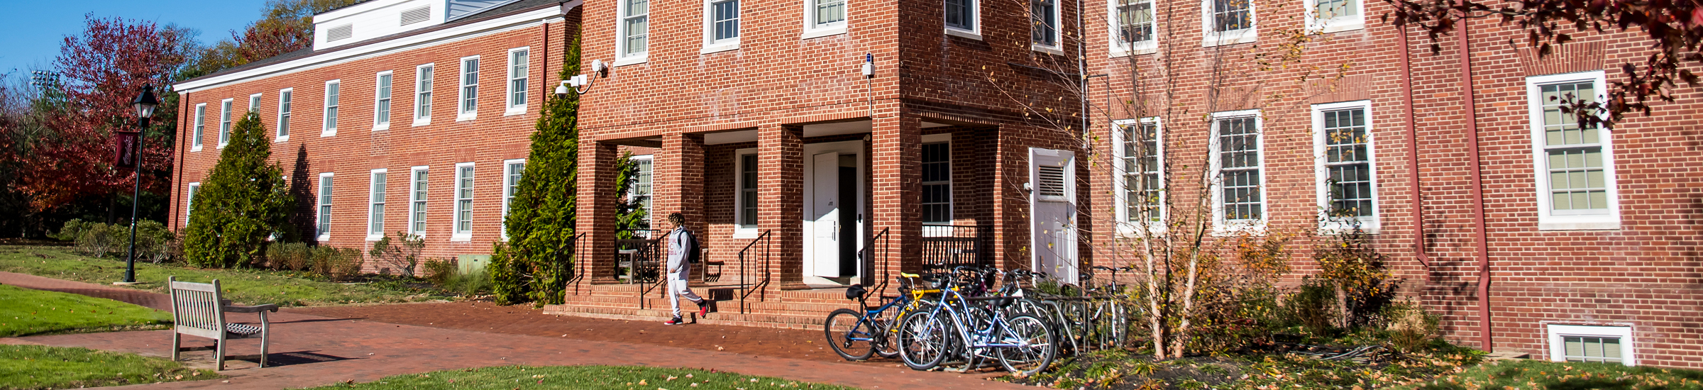
<instances>
[{"instance_id":1,"label":"bright green lawn wedge between paths, left of the bench","mask_svg":"<svg viewBox=\"0 0 1703 390\"><path fill-rule=\"evenodd\" d=\"M0 337L165 329L172 313L116 300L0 284Z\"/></svg>"}]
</instances>

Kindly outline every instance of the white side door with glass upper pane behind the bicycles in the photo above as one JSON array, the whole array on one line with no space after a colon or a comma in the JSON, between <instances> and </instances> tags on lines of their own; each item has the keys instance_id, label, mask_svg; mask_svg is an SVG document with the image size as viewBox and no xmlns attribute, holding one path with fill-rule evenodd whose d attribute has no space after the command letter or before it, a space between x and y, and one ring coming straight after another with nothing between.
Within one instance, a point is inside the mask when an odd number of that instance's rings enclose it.
<instances>
[{"instance_id":1,"label":"white side door with glass upper pane behind the bicycles","mask_svg":"<svg viewBox=\"0 0 1703 390\"><path fill-rule=\"evenodd\" d=\"M1029 148L1032 267L1076 283L1076 158L1069 150Z\"/></svg>"}]
</instances>

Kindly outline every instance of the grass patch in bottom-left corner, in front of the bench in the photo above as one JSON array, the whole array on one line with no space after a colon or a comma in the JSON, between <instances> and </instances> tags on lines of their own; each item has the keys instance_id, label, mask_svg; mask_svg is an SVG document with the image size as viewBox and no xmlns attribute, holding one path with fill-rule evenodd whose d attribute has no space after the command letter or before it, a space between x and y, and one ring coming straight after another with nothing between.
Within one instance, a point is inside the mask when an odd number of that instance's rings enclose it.
<instances>
[{"instance_id":1,"label":"grass patch in bottom-left corner, in front of the bench","mask_svg":"<svg viewBox=\"0 0 1703 390\"><path fill-rule=\"evenodd\" d=\"M0 390L114 387L216 378L175 361L85 347L0 346Z\"/></svg>"}]
</instances>

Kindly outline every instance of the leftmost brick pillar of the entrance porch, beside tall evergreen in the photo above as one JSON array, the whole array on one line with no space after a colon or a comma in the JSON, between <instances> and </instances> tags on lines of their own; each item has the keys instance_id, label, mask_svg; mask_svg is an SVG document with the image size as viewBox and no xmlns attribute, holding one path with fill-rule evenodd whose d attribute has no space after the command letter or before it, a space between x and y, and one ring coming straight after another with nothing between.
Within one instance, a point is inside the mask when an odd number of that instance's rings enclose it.
<instances>
[{"instance_id":1,"label":"leftmost brick pillar of the entrance porch, beside tall evergreen","mask_svg":"<svg viewBox=\"0 0 1703 390\"><path fill-rule=\"evenodd\" d=\"M601 141L579 143L579 201L576 228L579 238L579 264L589 281L615 283L615 145Z\"/></svg>"}]
</instances>

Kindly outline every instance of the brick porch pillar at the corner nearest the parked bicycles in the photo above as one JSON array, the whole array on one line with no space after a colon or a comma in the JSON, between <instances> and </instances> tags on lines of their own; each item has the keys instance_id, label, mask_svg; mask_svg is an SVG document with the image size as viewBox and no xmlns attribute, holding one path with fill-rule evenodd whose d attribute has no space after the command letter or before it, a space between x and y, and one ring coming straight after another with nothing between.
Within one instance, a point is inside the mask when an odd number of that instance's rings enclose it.
<instances>
[{"instance_id":1,"label":"brick porch pillar at the corner nearest the parked bicycles","mask_svg":"<svg viewBox=\"0 0 1703 390\"><path fill-rule=\"evenodd\" d=\"M918 201L923 191L923 126L911 116L875 118L870 135L872 218L879 233L887 228L887 269L879 278L891 279L899 271L921 269L923 218ZM884 247L874 242L874 249ZM879 259L879 255L877 255ZM877 279L879 281L879 279Z\"/></svg>"}]
</instances>

